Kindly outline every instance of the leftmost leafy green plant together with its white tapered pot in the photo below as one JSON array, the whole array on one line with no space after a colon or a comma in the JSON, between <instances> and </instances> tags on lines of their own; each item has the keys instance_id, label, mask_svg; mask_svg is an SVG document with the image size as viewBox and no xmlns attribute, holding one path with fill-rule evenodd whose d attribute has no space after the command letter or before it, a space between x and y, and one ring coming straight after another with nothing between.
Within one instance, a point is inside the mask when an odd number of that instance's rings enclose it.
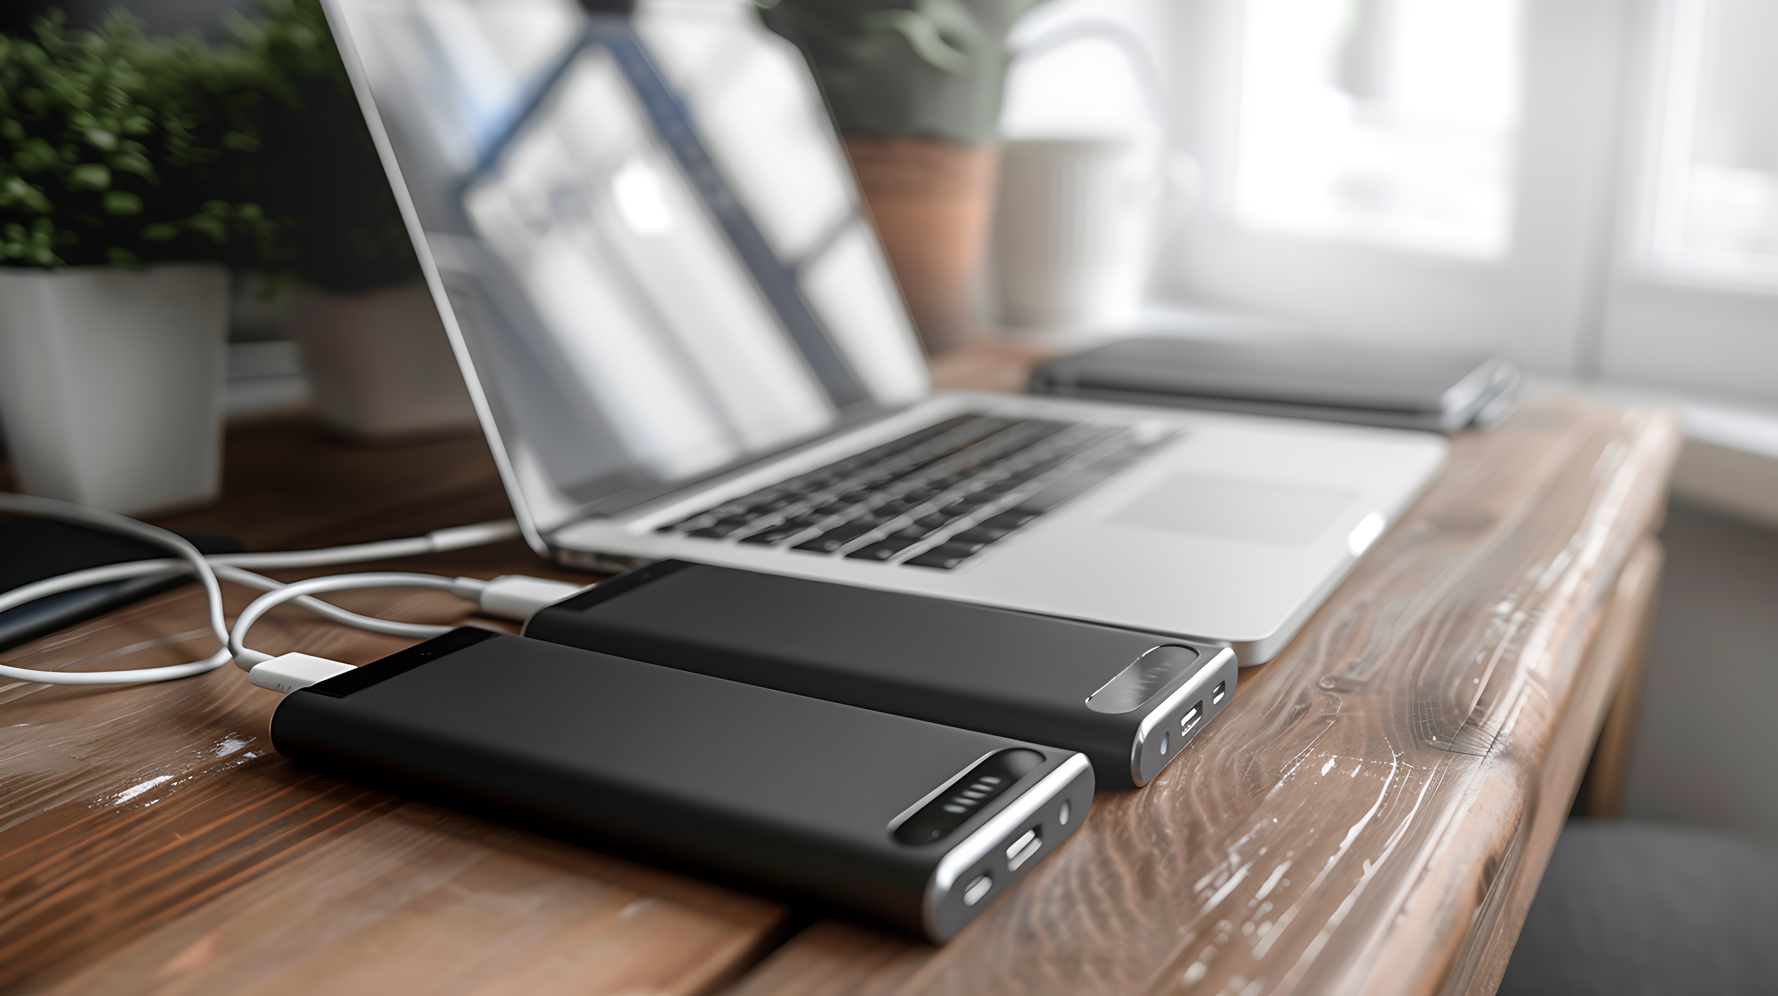
<instances>
[{"instance_id":1,"label":"leftmost leafy green plant together with its white tapered pot","mask_svg":"<svg viewBox=\"0 0 1778 996\"><path fill-rule=\"evenodd\" d=\"M119 512L215 498L226 265L272 251L240 199L236 50L39 20L0 37L0 420L18 487Z\"/></svg>"}]
</instances>

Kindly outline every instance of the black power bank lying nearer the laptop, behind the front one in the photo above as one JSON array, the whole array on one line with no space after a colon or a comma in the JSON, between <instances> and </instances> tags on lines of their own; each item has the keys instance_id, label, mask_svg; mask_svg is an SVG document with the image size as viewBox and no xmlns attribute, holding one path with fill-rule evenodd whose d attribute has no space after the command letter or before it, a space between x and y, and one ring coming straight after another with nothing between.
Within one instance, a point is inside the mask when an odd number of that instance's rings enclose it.
<instances>
[{"instance_id":1,"label":"black power bank lying nearer the laptop, behind the front one","mask_svg":"<svg viewBox=\"0 0 1778 996\"><path fill-rule=\"evenodd\" d=\"M525 635L1081 751L1140 788L1234 694L1229 647L914 594L661 560Z\"/></svg>"}]
</instances>

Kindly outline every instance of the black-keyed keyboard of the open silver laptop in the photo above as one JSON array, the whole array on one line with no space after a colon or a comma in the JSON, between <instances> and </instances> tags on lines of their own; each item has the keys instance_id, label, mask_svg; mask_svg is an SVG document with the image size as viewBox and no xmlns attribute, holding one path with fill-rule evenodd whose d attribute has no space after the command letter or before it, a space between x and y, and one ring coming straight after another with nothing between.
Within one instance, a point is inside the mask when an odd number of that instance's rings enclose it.
<instances>
[{"instance_id":1,"label":"black-keyed keyboard of the open silver laptop","mask_svg":"<svg viewBox=\"0 0 1778 996\"><path fill-rule=\"evenodd\" d=\"M964 414L656 532L949 571L1154 443L1117 425Z\"/></svg>"}]
</instances>

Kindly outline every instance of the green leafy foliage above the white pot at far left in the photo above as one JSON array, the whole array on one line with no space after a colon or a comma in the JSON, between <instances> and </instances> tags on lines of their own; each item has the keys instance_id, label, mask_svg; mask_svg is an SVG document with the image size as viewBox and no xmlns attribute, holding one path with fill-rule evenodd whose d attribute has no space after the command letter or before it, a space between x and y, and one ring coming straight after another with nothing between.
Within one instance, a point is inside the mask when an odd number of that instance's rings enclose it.
<instances>
[{"instance_id":1,"label":"green leafy foliage above the white pot at far left","mask_svg":"<svg viewBox=\"0 0 1778 996\"><path fill-rule=\"evenodd\" d=\"M244 50L149 39L121 14L0 37L0 265L274 256L277 224L242 190L277 89Z\"/></svg>"}]
</instances>

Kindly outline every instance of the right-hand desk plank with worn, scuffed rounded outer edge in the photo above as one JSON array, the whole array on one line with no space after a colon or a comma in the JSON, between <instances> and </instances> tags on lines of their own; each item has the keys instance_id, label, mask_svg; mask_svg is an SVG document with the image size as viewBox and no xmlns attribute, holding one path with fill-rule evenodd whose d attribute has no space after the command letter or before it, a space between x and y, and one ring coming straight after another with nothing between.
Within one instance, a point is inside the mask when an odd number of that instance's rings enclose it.
<instances>
[{"instance_id":1,"label":"right-hand desk plank with worn, scuffed rounded outer edge","mask_svg":"<svg viewBox=\"0 0 1778 996\"><path fill-rule=\"evenodd\" d=\"M823 923L734 992L1467 989L1508 886L1524 873L1524 902L1534 891L1554 832L1531 829L1540 813L1559 829L1625 667L1590 651L1652 598L1639 582L1609 612L1677 446L1666 413L1584 402L1460 436L1293 646L1243 671L1223 717L1145 790L1101 793L957 941L884 946Z\"/></svg>"}]
</instances>

